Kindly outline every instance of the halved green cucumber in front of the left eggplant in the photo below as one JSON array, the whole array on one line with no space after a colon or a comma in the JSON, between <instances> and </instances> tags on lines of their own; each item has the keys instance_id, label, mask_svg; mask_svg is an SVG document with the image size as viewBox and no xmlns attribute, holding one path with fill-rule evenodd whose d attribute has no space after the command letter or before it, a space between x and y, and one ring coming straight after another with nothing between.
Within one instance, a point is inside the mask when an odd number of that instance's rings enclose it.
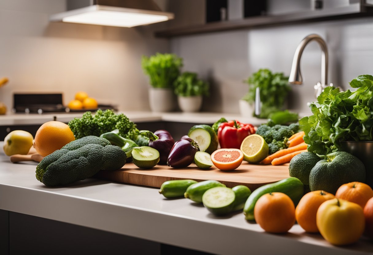
<instances>
[{"instance_id":1,"label":"halved green cucumber in front of the left eggplant","mask_svg":"<svg viewBox=\"0 0 373 255\"><path fill-rule=\"evenodd\" d=\"M148 146L135 147L132 150L132 161L139 168L152 168L159 162L159 152Z\"/></svg>"}]
</instances>

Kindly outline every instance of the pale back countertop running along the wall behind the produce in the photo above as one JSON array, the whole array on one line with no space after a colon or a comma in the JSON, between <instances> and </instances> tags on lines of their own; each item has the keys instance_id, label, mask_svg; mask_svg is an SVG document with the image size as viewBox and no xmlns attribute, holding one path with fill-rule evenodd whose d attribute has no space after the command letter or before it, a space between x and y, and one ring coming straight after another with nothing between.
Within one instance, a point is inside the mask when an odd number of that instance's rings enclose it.
<instances>
[{"instance_id":1,"label":"pale back countertop running along the wall behind the produce","mask_svg":"<svg viewBox=\"0 0 373 255\"><path fill-rule=\"evenodd\" d=\"M120 113L126 114L133 122L189 122L189 123L214 123L221 117L228 120L239 120L241 122L260 125L266 123L266 119L257 119L254 117L242 117L239 114L232 113L154 113L151 111L123 111ZM74 118L80 118L83 113L44 113L44 114L7 114L0 115L0 126L5 125L41 125L45 122L56 119L60 122L69 122Z\"/></svg>"}]
</instances>

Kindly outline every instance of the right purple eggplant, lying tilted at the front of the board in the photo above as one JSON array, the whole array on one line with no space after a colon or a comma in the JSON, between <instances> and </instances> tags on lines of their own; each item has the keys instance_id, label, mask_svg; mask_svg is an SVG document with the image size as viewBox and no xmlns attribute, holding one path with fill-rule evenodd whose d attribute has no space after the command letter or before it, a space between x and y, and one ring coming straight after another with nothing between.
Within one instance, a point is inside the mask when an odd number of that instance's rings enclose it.
<instances>
[{"instance_id":1,"label":"right purple eggplant, lying tilted at the front of the board","mask_svg":"<svg viewBox=\"0 0 373 255\"><path fill-rule=\"evenodd\" d=\"M183 138L175 142L168 155L167 165L170 167L187 167L192 164L198 145L191 138Z\"/></svg>"}]
</instances>

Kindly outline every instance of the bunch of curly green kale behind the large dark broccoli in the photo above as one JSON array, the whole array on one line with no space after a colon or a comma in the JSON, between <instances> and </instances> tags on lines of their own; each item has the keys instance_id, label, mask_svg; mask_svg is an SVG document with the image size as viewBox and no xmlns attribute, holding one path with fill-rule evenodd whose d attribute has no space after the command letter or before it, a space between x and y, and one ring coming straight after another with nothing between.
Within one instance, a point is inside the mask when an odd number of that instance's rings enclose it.
<instances>
[{"instance_id":1,"label":"bunch of curly green kale behind the large dark broccoli","mask_svg":"<svg viewBox=\"0 0 373 255\"><path fill-rule=\"evenodd\" d=\"M97 110L94 115L86 111L81 118L75 118L68 123L75 139L84 136L100 136L103 133L118 130L118 135L133 140L139 146L145 146L149 143L149 138L156 140L150 131L138 130L136 124L123 114L115 114L112 110Z\"/></svg>"}]
</instances>

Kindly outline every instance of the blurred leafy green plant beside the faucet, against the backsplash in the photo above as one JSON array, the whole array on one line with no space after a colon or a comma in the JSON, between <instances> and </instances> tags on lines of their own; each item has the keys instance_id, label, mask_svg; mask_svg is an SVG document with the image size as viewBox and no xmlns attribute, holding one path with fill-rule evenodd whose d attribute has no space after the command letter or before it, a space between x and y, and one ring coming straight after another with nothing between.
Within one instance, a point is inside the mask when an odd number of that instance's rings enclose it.
<instances>
[{"instance_id":1,"label":"blurred leafy green plant beside the faucet, against the backsplash","mask_svg":"<svg viewBox=\"0 0 373 255\"><path fill-rule=\"evenodd\" d=\"M272 73L268 69L259 69L245 81L251 86L242 99L254 103L256 88L259 88L262 107L261 113L257 117L267 118L270 113L283 107L291 89L288 79L289 77L284 76L283 73Z\"/></svg>"}]
</instances>

